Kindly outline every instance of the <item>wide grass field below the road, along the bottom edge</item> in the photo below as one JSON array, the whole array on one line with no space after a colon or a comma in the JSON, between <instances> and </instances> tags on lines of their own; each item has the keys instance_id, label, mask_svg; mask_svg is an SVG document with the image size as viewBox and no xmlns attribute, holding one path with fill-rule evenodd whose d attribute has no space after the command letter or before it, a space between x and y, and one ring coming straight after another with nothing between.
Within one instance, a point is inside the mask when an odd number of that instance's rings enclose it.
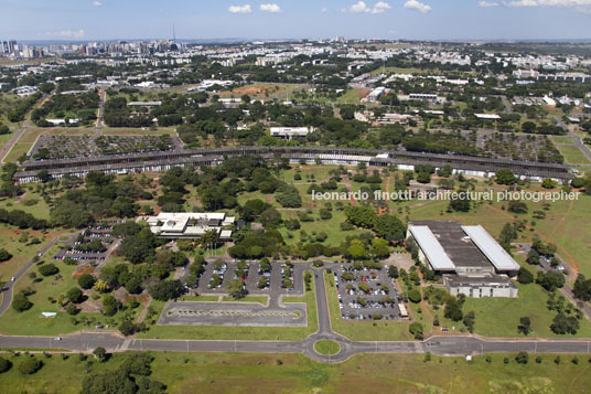
<instances>
[{"instance_id":1,"label":"wide grass field below the road, along the bottom edge","mask_svg":"<svg viewBox=\"0 0 591 394\"><path fill-rule=\"evenodd\" d=\"M535 363L517 364L515 354L494 354L491 362L418 354L363 354L339 364L316 363L301 354L152 353L150 379L166 385L169 393L584 393L591 384L587 358L541 355ZM25 356L2 355L13 364L0 375L2 393L78 393L86 363L71 354L43 360L34 375L22 375L18 365ZM92 358L89 371L114 371L123 354L99 363ZM504 363L504 358L509 362ZM64 384L64 382L68 382ZM198 388L197 388L198 387Z\"/></svg>"}]
</instances>

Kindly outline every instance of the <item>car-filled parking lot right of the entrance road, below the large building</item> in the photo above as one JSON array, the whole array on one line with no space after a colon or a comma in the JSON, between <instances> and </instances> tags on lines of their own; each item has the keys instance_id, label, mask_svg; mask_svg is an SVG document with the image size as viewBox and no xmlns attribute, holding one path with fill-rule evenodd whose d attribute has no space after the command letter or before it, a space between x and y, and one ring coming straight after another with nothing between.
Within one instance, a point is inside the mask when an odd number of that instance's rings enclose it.
<instances>
[{"instance_id":1,"label":"car-filled parking lot right of the entrance road, below the large building","mask_svg":"<svg viewBox=\"0 0 591 394\"><path fill-rule=\"evenodd\" d=\"M401 300L386 268L354 269L344 263L333 269L341 317L352 320L401 318Z\"/></svg>"}]
</instances>

